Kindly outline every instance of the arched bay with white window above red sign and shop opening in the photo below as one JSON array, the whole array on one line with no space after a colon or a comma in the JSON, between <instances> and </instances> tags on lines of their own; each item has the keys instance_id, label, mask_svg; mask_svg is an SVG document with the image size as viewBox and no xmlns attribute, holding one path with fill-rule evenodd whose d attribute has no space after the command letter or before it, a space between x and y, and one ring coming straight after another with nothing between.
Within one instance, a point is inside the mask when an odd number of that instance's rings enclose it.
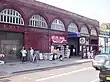
<instances>
[{"instance_id":1,"label":"arched bay with white window above red sign and shop opening","mask_svg":"<svg viewBox=\"0 0 110 82\"><path fill-rule=\"evenodd\" d=\"M54 19L51 24L51 31L49 32L49 35L50 35L51 53L53 49L62 48L62 50L64 50L64 57L65 57L67 39L66 39L66 29L65 29L64 22L60 19Z\"/></svg>"}]
</instances>

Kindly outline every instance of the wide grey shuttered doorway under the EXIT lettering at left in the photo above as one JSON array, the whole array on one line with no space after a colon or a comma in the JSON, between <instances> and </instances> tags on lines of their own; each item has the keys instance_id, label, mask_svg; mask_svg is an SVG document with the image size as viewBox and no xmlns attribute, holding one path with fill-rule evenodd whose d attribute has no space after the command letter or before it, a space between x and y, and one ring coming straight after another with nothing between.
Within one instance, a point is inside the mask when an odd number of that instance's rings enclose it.
<instances>
[{"instance_id":1,"label":"wide grey shuttered doorway under the EXIT lettering at left","mask_svg":"<svg viewBox=\"0 0 110 82\"><path fill-rule=\"evenodd\" d=\"M23 47L23 34L14 32L0 32L0 54L4 54L5 61L18 61Z\"/></svg>"}]
</instances>

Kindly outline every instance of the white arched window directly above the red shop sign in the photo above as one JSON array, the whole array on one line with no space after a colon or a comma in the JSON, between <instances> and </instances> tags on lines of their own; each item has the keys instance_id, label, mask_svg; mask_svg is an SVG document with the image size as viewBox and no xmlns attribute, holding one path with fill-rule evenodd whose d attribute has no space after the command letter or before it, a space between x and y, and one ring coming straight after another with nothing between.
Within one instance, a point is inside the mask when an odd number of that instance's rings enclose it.
<instances>
[{"instance_id":1,"label":"white arched window directly above the red shop sign","mask_svg":"<svg viewBox=\"0 0 110 82\"><path fill-rule=\"evenodd\" d=\"M53 29L53 30L59 30L59 31L65 31L64 24L63 24L63 22L62 22L61 20L59 20L59 19L55 19L55 20L52 22L51 29Z\"/></svg>"}]
</instances>

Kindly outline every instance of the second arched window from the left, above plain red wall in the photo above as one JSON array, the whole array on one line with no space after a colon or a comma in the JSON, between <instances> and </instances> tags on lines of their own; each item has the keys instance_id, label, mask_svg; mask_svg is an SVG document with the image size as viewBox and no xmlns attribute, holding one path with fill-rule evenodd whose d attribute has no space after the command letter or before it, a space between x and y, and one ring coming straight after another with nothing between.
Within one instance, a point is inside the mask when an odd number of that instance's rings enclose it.
<instances>
[{"instance_id":1,"label":"second arched window from the left, above plain red wall","mask_svg":"<svg viewBox=\"0 0 110 82\"><path fill-rule=\"evenodd\" d=\"M40 15L33 15L29 20L29 26L48 28L46 20Z\"/></svg>"}]
</instances>

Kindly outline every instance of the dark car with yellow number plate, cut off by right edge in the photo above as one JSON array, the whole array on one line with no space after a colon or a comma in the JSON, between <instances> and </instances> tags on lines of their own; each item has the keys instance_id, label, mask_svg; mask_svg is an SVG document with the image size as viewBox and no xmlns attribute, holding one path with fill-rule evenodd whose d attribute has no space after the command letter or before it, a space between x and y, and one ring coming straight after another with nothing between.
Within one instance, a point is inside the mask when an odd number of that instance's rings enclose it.
<instances>
[{"instance_id":1,"label":"dark car with yellow number plate, cut off by right edge","mask_svg":"<svg viewBox=\"0 0 110 82\"><path fill-rule=\"evenodd\" d=\"M110 60L106 60L100 68L100 82L110 82Z\"/></svg>"}]
</instances>

